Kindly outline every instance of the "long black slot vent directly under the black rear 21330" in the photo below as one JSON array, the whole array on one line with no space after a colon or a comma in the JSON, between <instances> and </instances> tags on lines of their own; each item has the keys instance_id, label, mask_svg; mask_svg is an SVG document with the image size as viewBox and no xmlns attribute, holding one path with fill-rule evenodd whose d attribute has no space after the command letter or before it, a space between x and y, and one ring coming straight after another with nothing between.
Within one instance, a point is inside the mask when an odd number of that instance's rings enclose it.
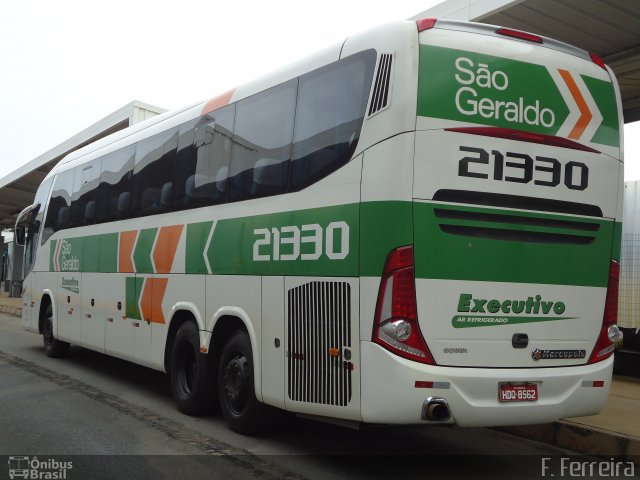
<instances>
[{"instance_id":1,"label":"long black slot vent directly under the black rear 21330","mask_svg":"<svg viewBox=\"0 0 640 480\"><path fill-rule=\"evenodd\" d=\"M596 205L564 202L562 200L552 200L548 198L470 192L467 190L438 190L433 196L433 199L437 202L466 203L468 205L482 205L487 207L517 208L519 210L602 217L602 210Z\"/></svg>"}]
</instances>

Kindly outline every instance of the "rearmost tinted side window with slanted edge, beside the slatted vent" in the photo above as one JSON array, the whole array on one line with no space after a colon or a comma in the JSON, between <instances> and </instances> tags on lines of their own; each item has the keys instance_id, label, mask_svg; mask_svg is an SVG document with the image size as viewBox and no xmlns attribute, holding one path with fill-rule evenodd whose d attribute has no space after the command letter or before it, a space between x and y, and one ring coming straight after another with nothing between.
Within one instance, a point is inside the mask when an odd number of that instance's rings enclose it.
<instances>
[{"instance_id":1,"label":"rearmost tinted side window with slanted edge, beside the slatted vent","mask_svg":"<svg viewBox=\"0 0 640 480\"><path fill-rule=\"evenodd\" d=\"M356 149L375 65L374 50L300 77L291 190L347 163Z\"/></svg>"}]
</instances>

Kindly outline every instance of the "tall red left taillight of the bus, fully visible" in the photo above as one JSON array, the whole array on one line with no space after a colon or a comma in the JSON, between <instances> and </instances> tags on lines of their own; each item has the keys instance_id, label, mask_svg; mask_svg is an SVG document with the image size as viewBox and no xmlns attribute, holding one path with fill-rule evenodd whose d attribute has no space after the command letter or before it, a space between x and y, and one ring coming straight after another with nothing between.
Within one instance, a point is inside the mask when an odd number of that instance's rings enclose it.
<instances>
[{"instance_id":1,"label":"tall red left taillight of the bus, fully visible","mask_svg":"<svg viewBox=\"0 0 640 480\"><path fill-rule=\"evenodd\" d=\"M418 324L412 246L396 248L387 256L372 341L409 360L435 364Z\"/></svg>"}]
</instances>

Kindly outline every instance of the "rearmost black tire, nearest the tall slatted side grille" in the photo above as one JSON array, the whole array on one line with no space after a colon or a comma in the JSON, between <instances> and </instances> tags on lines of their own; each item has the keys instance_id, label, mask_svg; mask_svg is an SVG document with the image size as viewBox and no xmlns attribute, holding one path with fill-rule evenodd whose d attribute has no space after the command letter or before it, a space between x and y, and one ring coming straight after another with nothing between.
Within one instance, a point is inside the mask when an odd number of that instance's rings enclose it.
<instances>
[{"instance_id":1,"label":"rearmost black tire, nearest the tall slatted side grille","mask_svg":"<svg viewBox=\"0 0 640 480\"><path fill-rule=\"evenodd\" d=\"M227 425L244 435L260 433L271 426L275 409L256 398L251 340L244 331L231 335L222 350L218 371L220 410Z\"/></svg>"}]
</instances>

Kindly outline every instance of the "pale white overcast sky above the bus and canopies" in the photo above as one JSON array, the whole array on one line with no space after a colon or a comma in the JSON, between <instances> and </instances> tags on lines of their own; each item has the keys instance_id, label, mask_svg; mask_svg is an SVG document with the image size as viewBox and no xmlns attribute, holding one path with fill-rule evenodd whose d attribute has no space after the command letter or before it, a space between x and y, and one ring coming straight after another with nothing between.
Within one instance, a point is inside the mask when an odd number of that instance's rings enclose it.
<instances>
[{"instance_id":1,"label":"pale white overcast sky above the bus and canopies","mask_svg":"<svg viewBox=\"0 0 640 480\"><path fill-rule=\"evenodd\" d=\"M21 0L0 15L0 179L133 100L205 100L440 0ZM625 127L640 179L640 122Z\"/></svg>"}]
</instances>

